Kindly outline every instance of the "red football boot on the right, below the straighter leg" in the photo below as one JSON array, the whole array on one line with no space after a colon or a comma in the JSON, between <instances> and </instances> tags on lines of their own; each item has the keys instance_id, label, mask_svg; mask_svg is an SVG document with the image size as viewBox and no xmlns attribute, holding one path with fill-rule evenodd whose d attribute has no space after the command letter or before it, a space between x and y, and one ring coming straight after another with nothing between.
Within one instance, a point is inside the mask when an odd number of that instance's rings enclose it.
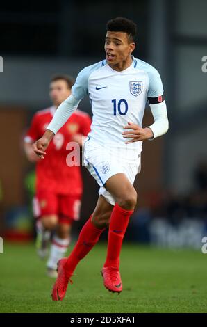
<instances>
[{"instance_id":1,"label":"red football boot on the right, below the straighter leg","mask_svg":"<svg viewBox=\"0 0 207 327\"><path fill-rule=\"evenodd\" d=\"M104 278L104 286L110 292L122 292L122 280L119 270L114 267L104 267L101 270L101 274Z\"/></svg>"}]
</instances>

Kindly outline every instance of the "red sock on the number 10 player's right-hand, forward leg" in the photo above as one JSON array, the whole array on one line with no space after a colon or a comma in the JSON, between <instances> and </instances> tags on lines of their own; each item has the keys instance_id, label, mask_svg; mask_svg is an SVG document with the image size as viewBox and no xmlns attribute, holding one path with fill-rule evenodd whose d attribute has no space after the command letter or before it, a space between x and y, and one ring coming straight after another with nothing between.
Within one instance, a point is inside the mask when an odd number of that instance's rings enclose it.
<instances>
[{"instance_id":1,"label":"red sock on the number 10 player's right-hand, forward leg","mask_svg":"<svg viewBox=\"0 0 207 327\"><path fill-rule=\"evenodd\" d=\"M119 255L122 249L122 241L131 214L133 214L133 210L126 210L119 207L117 203L115 204L110 216L108 248L104 267L115 267L116 269L119 269Z\"/></svg>"}]
</instances>

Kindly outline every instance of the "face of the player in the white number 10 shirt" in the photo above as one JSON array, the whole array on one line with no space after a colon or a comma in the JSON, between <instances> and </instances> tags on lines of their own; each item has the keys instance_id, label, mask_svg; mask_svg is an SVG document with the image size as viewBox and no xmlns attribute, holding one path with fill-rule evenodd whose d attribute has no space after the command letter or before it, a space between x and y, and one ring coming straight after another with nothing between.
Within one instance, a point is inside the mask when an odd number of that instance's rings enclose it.
<instances>
[{"instance_id":1,"label":"face of the player in the white number 10 shirt","mask_svg":"<svg viewBox=\"0 0 207 327\"><path fill-rule=\"evenodd\" d=\"M107 31L104 49L106 51L106 60L113 67L131 60L131 53L135 49L135 43L130 42L127 33Z\"/></svg>"}]
</instances>

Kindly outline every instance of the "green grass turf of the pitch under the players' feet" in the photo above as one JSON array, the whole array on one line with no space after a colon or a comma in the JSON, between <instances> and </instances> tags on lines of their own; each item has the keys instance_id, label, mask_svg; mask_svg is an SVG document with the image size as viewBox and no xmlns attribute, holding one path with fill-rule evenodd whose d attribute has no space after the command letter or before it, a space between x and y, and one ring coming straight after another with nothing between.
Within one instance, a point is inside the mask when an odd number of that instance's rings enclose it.
<instances>
[{"instance_id":1,"label":"green grass turf of the pitch under the players' feet","mask_svg":"<svg viewBox=\"0 0 207 327\"><path fill-rule=\"evenodd\" d=\"M5 244L0 254L0 312L207 312L207 255L124 244L123 292L104 288L106 244L97 244L76 269L63 302L51 301L53 280L33 244Z\"/></svg>"}]
</instances>

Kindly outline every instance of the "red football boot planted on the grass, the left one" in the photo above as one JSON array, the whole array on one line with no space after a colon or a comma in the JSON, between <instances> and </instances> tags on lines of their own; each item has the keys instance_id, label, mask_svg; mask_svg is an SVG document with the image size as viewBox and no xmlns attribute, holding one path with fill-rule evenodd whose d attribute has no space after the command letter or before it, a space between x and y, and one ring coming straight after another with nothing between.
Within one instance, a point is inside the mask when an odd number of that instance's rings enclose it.
<instances>
[{"instance_id":1,"label":"red football boot planted on the grass, the left one","mask_svg":"<svg viewBox=\"0 0 207 327\"><path fill-rule=\"evenodd\" d=\"M63 301L63 298L65 297L65 293L67 291L67 285L68 282L71 284L73 283L72 280L70 280L71 276L70 274L67 274L64 265L67 261L67 257L63 257L63 259L60 259L58 261L58 277L56 279L56 282L53 286L51 297L53 301Z\"/></svg>"}]
</instances>

